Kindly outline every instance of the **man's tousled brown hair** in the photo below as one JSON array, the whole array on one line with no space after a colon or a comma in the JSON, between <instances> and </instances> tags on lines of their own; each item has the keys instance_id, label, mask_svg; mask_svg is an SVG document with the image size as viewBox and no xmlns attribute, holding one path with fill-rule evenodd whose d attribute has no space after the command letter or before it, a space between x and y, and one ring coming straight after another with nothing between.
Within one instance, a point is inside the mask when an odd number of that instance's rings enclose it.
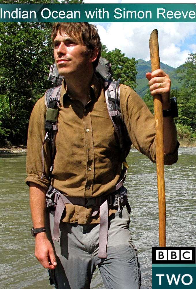
<instances>
[{"instance_id":1,"label":"man's tousled brown hair","mask_svg":"<svg viewBox=\"0 0 196 289\"><path fill-rule=\"evenodd\" d=\"M97 32L97 27L92 24L88 24L87 22L57 22L53 24L51 40L54 42L54 38L57 33L62 34L66 33L68 36L72 38L78 38L78 41L85 45L87 48L87 53L98 48L98 56L97 59L93 62L93 68L98 65L99 58L101 56L101 40L99 34Z\"/></svg>"}]
</instances>

